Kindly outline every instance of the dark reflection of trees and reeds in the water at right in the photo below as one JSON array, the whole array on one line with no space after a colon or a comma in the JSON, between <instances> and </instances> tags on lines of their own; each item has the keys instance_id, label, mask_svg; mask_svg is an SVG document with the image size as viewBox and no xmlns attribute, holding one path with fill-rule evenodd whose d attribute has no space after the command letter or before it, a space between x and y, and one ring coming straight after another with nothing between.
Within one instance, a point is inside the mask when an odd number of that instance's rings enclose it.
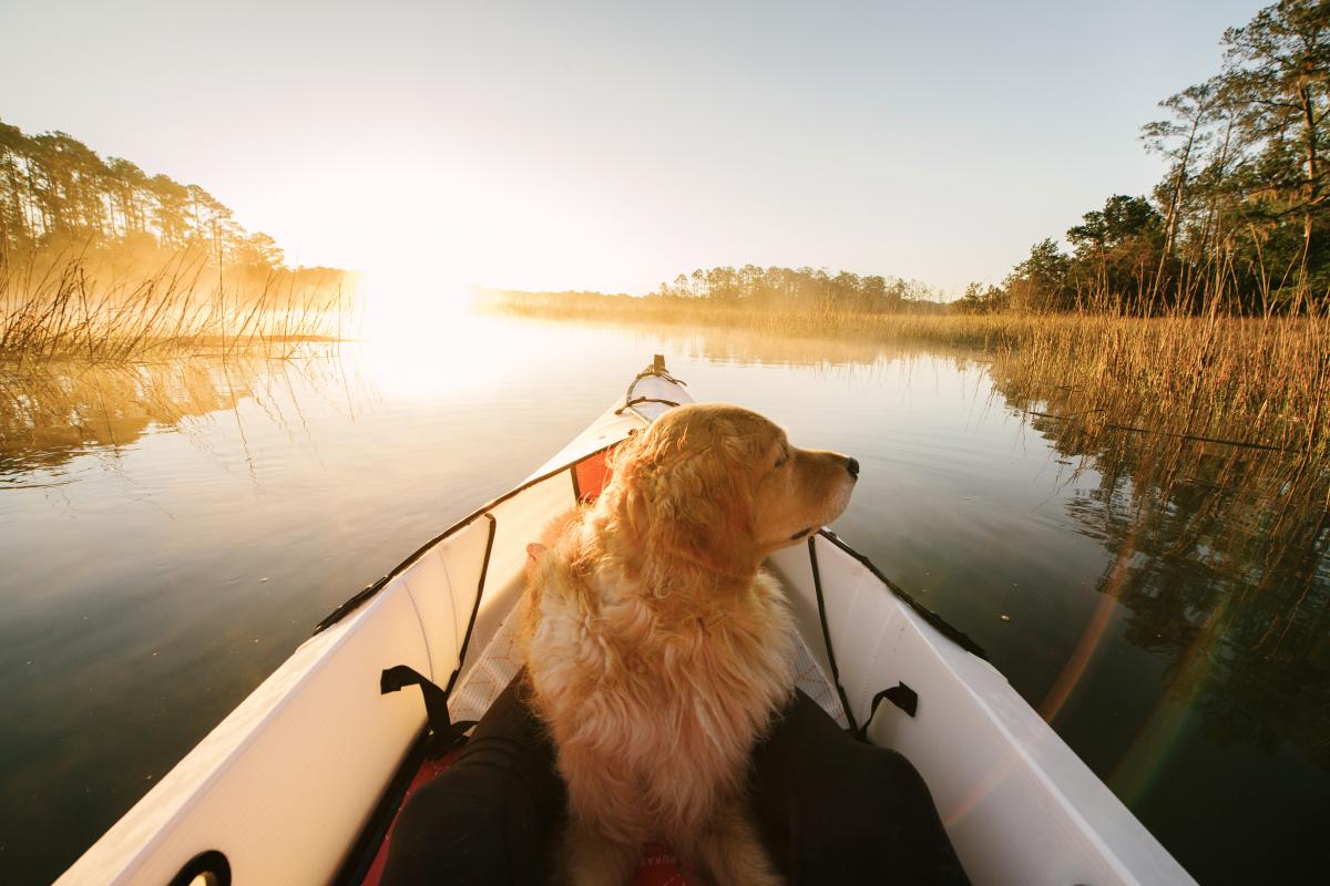
<instances>
[{"instance_id":1,"label":"dark reflection of trees and reeds in the water at right","mask_svg":"<svg viewBox=\"0 0 1330 886\"><path fill-rule=\"evenodd\" d=\"M995 392L1043 413L1031 426L1085 484L1067 513L1108 554L1095 583L1101 600L1041 713L1079 751L1100 745L1096 768L1202 882L1307 877L1323 862L1310 843L1261 859L1214 847L1262 824L1285 840L1325 824L1317 797L1330 785L1330 465L1112 428L1095 416L1051 418L1076 414L1075 392L1049 385L1031 401L1004 391L1008 376L999 364ZM1117 612L1120 631L1111 627ZM1162 664L1164 689L1153 705L1117 707L1112 716L1130 727L1105 753L1115 691L1093 672L1138 679L1111 663L1121 643ZM1267 798L1254 808L1270 818L1228 812L1240 797ZM1180 805L1216 814L1189 830Z\"/></svg>"}]
</instances>

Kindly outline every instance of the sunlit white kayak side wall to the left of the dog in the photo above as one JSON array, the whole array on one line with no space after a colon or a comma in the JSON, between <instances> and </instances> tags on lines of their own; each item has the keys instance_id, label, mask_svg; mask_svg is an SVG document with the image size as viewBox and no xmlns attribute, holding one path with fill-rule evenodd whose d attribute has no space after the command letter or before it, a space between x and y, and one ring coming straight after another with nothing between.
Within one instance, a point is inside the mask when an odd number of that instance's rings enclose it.
<instances>
[{"instance_id":1,"label":"sunlit white kayak side wall to the left of the dog","mask_svg":"<svg viewBox=\"0 0 1330 886\"><path fill-rule=\"evenodd\" d=\"M57 882L160 886L207 850L237 883L329 882L424 729L419 693L382 695L379 675L406 664L446 684L520 594L519 542L573 503L560 472L419 553L297 648Z\"/></svg>"}]
</instances>

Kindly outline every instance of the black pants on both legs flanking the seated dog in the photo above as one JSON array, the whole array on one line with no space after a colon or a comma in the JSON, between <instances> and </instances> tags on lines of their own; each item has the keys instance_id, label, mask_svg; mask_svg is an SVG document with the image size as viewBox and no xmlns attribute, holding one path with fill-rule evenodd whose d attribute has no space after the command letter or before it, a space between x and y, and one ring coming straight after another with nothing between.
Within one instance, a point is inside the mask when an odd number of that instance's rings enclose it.
<instances>
[{"instance_id":1,"label":"black pants on both legs flanking the seated dog","mask_svg":"<svg viewBox=\"0 0 1330 886\"><path fill-rule=\"evenodd\" d=\"M536 886L565 806L553 748L509 685L398 818L382 882ZM753 753L754 817L791 886L966 885L923 778L802 692Z\"/></svg>"}]
</instances>

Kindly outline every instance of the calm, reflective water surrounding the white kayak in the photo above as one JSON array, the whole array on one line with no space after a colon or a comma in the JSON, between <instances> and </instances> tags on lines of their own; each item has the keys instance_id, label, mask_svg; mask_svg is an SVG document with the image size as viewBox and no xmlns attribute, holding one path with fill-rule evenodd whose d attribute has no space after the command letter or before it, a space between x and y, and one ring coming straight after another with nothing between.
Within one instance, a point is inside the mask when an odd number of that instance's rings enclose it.
<instances>
[{"instance_id":1,"label":"calm, reflective water surrounding the white kayak","mask_svg":"<svg viewBox=\"0 0 1330 886\"><path fill-rule=\"evenodd\" d=\"M0 377L0 882L57 875L315 622L656 352L698 400L858 457L835 529L1201 882L1323 882L1323 510L1297 543L1273 522L1225 547L1213 477L1158 505L1129 470L1148 452L1031 426L980 355L495 317L285 364Z\"/></svg>"}]
</instances>

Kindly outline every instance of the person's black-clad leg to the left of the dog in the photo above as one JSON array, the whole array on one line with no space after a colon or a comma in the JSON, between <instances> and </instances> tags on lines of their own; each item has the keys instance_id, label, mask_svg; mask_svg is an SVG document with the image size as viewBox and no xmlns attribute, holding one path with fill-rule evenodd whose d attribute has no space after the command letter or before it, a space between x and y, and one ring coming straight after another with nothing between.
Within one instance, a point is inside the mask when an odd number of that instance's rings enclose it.
<instances>
[{"instance_id":1,"label":"person's black-clad leg to the left of the dog","mask_svg":"<svg viewBox=\"0 0 1330 886\"><path fill-rule=\"evenodd\" d=\"M519 676L452 766L407 801L392 830L384 886L547 882L565 794L553 747L520 685Z\"/></svg>"}]
</instances>

